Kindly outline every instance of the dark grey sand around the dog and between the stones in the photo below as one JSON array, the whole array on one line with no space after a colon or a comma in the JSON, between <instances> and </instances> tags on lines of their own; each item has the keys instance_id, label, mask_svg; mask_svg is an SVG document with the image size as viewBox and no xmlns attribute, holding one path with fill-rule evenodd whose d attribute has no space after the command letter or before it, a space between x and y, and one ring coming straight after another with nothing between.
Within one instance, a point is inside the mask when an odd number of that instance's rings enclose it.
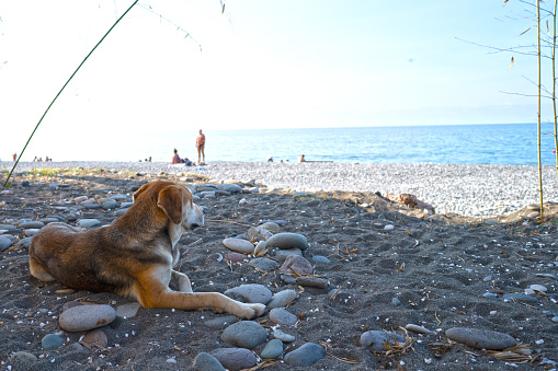
<instances>
[{"instance_id":1,"label":"dark grey sand around the dog and between the stones","mask_svg":"<svg viewBox=\"0 0 558 371\"><path fill-rule=\"evenodd\" d=\"M15 177L12 182L18 186L10 187L10 194L0 195L0 223L66 216L67 212L54 208L62 206L64 200L99 194L94 188L132 194L143 183L159 176L81 173L25 178L31 187L21 187L24 178ZM50 183L69 187L53 190ZM241 198L248 204L239 205ZM355 202L371 207L362 208ZM527 208L508 217L511 223L491 224L456 215L428 217L374 194L331 193L295 198L282 193L261 193L202 199L198 204L208 208L208 221L206 228L182 237L180 244L185 248L178 270L190 276L194 291L224 292L242 283L261 283L274 293L295 289L298 298L288 311L301 321L295 328L282 327L296 336L295 343L285 345L285 352L307 341L327 345L327 356L306 370L544 370L553 367L542 366L542 359L558 361L558 323L543 313L545 310L558 313L553 301L558 298L537 294L538 304L504 302L501 298L502 292L524 292L534 283L547 287L548 293L558 292L558 267L554 264L558 256L557 218L553 205L545 210L544 224L525 219L533 212ZM110 223L115 215L82 210L79 217ZM286 220L288 224L282 231L306 235L310 247L305 257L309 260L312 255L329 257L331 263L316 265L315 274L328 279L331 289L341 288L337 295L323 289L285 285L276 270L261 273L249 264L229 266L219 259L229 253L221 244L225 237L244 233L248 225L265 219ZM69 222L73 223L71 218ZM388 224L395 229L384 230ZM57 293L65 288L36 280L27 265L25 247L0 253L2 370L9 364L12 370L189 370L200 352L224 347L221 331L204 324L220 314L139 309L135 317L117 318L103 327L109 337L106 349L73 350L71 344L83 334L65 333L64 346L43 350L42 338L60 331L57 317L64 303L81 300L117 306L132 301L109 293ZM555 278L538 276L542 274ZM486 279L489 276L491 279ZM499 297L485 298L489 290ZM394 298L401 304L395 305ZM496 314L491 315L492 311ZM259 321L271 327L265 316ZM409 333L412 349L391 356L372 353L360 345L365 331L403 334L399 327L411 323L436 334ZM487 351L451 343L444 333L455 326L512 335L528 345L532 362L511 367ZM262 348L257 347L255 353ZM39 360L9 362L16 351L33 353ZM168 362L169 359L175 363ZM265 369L296 368L280 360Z\"/></svg>"}]
</instances>

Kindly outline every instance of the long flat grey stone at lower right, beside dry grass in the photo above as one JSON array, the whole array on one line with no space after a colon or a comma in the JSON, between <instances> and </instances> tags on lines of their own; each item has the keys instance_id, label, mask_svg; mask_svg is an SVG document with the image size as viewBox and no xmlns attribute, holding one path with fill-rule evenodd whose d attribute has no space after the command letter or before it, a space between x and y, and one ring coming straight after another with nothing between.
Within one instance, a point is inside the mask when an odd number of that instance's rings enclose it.
<instances>
[{"instance_id":1,"label":"long flat grey stone at lower right, beside dry grass","mask_svg":"<svg viewBox=\"0 0 558 371\"><path fill-rule=\"evenodd\" d=\"M453 327L445 336L475 349L502 350L517 345L512 336L485 328Z\"/></svg>"}]
</instances>

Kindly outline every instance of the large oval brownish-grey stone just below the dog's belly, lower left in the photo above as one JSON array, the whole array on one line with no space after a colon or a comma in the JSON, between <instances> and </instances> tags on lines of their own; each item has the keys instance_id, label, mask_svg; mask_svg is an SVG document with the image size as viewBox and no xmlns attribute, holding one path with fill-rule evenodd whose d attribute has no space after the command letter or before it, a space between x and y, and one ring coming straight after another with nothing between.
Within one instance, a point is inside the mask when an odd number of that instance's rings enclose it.
<instances>
[{"instance_id":1,"label":"large oval brownish-grey stone just below the dog's belly, lower left","mask_svg":"<svg viewBox=\"0 0 558 371\"><path fill-rule=\"evenodd\" d=\"M58 324L70 333L82 332L107 325L115 317L116 311L111 305L80 305L64 311Z\"/></svg>"}]
</instances>

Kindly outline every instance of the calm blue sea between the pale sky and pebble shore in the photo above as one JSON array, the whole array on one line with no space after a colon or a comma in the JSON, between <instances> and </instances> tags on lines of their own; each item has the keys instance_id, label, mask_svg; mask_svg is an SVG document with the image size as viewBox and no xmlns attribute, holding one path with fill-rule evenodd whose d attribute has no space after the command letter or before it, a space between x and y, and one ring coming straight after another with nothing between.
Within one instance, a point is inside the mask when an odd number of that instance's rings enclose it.
<instances>
[{"instance_id":1,"label":"calm blue sea between the pale sky and pebble shore","mask_svg":"<svg viewBox=\"0 0 558 371\"><path fill-rule=\"evenodd\" d=\"M542 162L556 164L554 125L542 126ZM535 165L536 124L204 130L206 161L308 161ZM115 141L50 147L54 161L170 161L176 149L196 161L197 128L135 131ZM33 151L33 150L32 150ZM31 161L27 153L23 161ZM39 153L41 154L41 153ZM31 156L31 158L30 158ZM30 159L27 159L30 158Z\"/></svg>"}]
</instances>

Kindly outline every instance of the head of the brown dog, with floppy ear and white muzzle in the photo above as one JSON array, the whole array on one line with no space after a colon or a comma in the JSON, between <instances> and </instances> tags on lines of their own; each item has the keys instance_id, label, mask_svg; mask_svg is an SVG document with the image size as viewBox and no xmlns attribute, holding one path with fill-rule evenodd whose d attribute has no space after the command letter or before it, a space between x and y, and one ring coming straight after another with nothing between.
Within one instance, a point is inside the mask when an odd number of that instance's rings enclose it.
<instances>
[{"instance_id":1,"label":"head of the brown dog, with floppy ear and white muzzle","mask_svg":"<svg viewBox=\"0 0 558 371\"><path fill-rule=\"evenodd\" d=\"M204 211L192 200L192 193L184 186L166 181L147 183L134 194L136 201L155 202L159 213L184 232L204 225Z\"/></svg>"}]
</instances>

